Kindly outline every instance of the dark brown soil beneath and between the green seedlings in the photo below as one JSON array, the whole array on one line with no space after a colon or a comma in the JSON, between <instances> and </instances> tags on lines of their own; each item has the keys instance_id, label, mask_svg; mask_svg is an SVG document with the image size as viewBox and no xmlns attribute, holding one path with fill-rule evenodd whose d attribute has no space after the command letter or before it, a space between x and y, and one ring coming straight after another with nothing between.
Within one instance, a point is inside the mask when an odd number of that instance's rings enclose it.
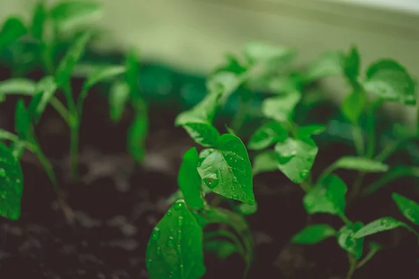
<instances>
[{"instance_id":1,"label":"dark brown soil beneath and between the green seedlings","mask_svg":"<svg viewBox=\"0 0 419 279\"><path fill-rule=\"evenodd\" d=\"M8 130L13 130L14 102L10 98L1 105L0 126ZM177 189L182 155L193 146L184 130L173 127L175 112L154 107L151 114L147 156L138 166L125 149L132 115L127 112L120 123L111 123L105 100L91 94L82 122L80 181L72 183L68 179L68 130L47 110L37 133L68 193L76 222L73 226L66 223L43 169L25 153L22 216L17 222L0 220L0 278L147 278L147 241L168 209L166 197ZM335 160L348 148L328 146L319 155L318 165ZM353 179L353 174L342 175ZM279 172L256 176L254 190L258 213L248 220L256 251L248 278L345 278L346 252L335 239L316 246L297 246L290 241L307 223L330 223L339 229L339 219L308 218L302 190ZM348 216L367 223L390 211L397 212L390 190L383 190L379 197L352 204ZM353 278L418 278L414 236L400 229L374 240L397 244L397 248L380 252ZM242 278L244 263L236 255L220 262L206 254L205 261L205 278Z\"/></svg>"}]
</instances>

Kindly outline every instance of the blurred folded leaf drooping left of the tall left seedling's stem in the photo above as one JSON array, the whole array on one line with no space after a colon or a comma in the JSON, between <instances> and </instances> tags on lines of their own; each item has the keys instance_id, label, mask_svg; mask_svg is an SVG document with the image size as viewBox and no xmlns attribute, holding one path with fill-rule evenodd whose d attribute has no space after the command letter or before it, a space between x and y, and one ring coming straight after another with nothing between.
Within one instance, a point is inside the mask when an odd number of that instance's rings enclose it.
<instances>
[{"instance_id":1,"label":"blurred folded leaf drooping left of the tall left seedling's stem","mask_svg":"<svg viewBox=\"0 0 419 279\"><path fill-rule=\"evenodd\" d=\"M45 107L50 103L50 100L56 91L57 84L54 81L54 77L51 75L43 77L43 79L36 84L36 94L34 95L34 98L32 98L31 103L29 103L29 110L31 111L35 123L38 123L41 115L45 111Z\"/></svg>"}]
</instances>

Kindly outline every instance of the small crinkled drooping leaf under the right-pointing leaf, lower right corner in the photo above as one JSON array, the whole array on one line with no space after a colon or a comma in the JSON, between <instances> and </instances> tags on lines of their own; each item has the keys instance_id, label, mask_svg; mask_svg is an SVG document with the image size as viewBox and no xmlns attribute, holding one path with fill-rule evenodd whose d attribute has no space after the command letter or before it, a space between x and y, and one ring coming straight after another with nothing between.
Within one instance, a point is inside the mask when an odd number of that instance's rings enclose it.
<instances>
[{"instance_id":1,"label":"small crinkled drooping leaf under the right-pointing leaf, lower right corner","mask_svg":"<svg viewBox=\"0 0 419 279\"><path fill-rule=\"evenodd\" d=\"M357 259L362 257L364 239L354 239L354 235L360 231L363 225L361 222L355 222L351 225L341 227L337 233L337 243L339 243L339 246L347 252L350 252Z\"/></svg>"}]
</instances>

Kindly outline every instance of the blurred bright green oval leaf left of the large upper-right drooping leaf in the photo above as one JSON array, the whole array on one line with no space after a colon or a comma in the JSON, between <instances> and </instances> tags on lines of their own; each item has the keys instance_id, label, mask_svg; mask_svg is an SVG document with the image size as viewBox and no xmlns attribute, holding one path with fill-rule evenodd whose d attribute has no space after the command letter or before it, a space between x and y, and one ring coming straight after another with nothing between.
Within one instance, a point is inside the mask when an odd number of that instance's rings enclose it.
<instances>
[{"instance_id":1,"label":"blurred bright green oval leaf left of the large upper-right drooping leaf","mask_svg":"<svg viewBox=\"0 0 419 279\"><path fill-rule=\"evenodd\" d=\"M358 123L362 111L367 103L365 93L355 90L350 93L341 104L342 114L352 123Z\"/></svg>"}]
</instances>

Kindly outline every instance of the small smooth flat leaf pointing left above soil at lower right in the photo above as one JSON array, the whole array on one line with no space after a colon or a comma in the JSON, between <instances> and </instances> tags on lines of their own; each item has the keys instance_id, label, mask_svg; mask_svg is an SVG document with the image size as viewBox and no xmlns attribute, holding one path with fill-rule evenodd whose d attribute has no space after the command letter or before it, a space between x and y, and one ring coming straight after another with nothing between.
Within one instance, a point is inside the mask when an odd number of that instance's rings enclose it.
<instances>
[{"instance_id":1,"label":"small smooth flat leaf pointing left above soil at lower right","mask_svg":"<svg viewBox=\"0 0 419 279\"><path fill-rule=\"evenodd\" d=\"M298 244L316 244L335 235L336 231L330 225L316 224L304 227L304 229L293 236L292 241Z\"/></svg>"}]
</instances>

